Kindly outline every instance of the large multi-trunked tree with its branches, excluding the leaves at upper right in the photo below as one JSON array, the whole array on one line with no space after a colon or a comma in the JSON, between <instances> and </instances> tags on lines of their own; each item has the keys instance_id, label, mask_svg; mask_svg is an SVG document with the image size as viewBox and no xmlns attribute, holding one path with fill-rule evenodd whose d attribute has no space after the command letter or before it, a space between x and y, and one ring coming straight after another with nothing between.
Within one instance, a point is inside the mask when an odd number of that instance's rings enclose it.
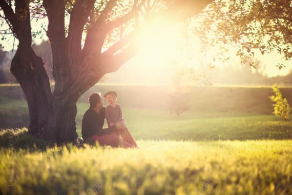
<instances>
[{"instance_id":1,"label":"large multi-trunked tree with its branches, excluding the leaves at upper right","mask_svg":"<svg viewBox=\"0 0 292 195\"><path fill-rule=\"evenodd\" d=\"M187 7L190 2L197 6ZM133 49L136 28L103 51L104 44L111 41L109 34L130 22L138 26L143 20L141 15L145 20L153 17L154 11L155 15L169 15L179 21L198 13L210 2L135 0L126 5L117 0L0 0L3 17L19 41L11 72L26 95L31 119L29 132L53 142L74 141L78 98L104 74L116 71L137 53ZM35 32L31 31L31 13L48 17L47 36L55 80L53 92L43 61L32 49ZM66 15L70 16L68 26Z\"/></svg>"}]
</instances>

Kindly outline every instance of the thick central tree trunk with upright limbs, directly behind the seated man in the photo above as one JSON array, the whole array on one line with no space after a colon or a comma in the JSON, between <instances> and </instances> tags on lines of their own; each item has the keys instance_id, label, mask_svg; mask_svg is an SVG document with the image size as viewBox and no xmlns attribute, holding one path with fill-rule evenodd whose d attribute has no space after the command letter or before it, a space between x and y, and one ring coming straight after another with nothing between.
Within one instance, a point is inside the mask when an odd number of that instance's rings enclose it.
<instances>
[{"instance_id":1,"label":"thick central tree trunk with upright limbs, directly behind the seated man","mask_svg":"<svg viewBox=\"0 0 292 195\"><path fill-rule=\"evenodd\" d=\"M94 0L76 1L70 15L69 32L65 33L65 2L44 1L49 25L47 35L53 55L55 89L50 100L44 138L48 141L65 143L77 138L75 116L76 103L84 85L80 77L81 37L84 25L94 5ZM82 74L87 76L86 74Z\"/></svg>"}]
</instances>

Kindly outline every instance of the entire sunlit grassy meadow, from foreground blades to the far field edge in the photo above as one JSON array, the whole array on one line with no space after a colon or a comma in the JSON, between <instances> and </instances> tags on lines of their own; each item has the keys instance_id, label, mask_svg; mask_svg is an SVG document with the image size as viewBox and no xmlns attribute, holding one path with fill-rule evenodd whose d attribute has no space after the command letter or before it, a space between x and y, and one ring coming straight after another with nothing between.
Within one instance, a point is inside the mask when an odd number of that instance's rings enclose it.
<instances>
[{"instance_id":1,"label":"entire sunlit grassy meadow, from foreground blades to the far field edge","mask_svg":"<svg viewBox=\"0 0 292 195\"><path fill-rule=\"evenodd\" d=\"M0 194L292 193L292 122L273 115L270 87L212 86L177 116L166 86L97 85L77 104L79 135L88 96L108 90L139 149L48 147L19 129L19 86L1 86ZM292 88L280 90L291 105Z\"/></svg>"}]
</instances>

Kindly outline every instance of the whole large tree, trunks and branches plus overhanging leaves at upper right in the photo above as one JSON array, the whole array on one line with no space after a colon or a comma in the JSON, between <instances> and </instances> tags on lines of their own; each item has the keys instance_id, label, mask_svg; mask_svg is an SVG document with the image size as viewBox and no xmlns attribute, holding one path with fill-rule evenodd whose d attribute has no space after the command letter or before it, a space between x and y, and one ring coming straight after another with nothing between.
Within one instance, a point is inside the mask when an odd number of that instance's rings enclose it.
<instances>
[{"instance_id":1,"label":"whole large tree, trunks and branches plus overhanging leaves at upper right","mask_svg":"<svg viewBox=\"0 0 292 195\"><path fill-rule=\"evenodd\" d=\"M242 32L244 32L243 35L248 35L249 30L252 30L248 27L251 22L260 21L262 24L265 19L270 21L268 13L273 11L281 13L279 17L281 28L279 30L278 24L273 23L268 28L262 28L263 32L266 33L264 30L270 29L268 33L272 33L274 37L272 40L275 42L282 40L283 45L290 44L290 39L283 42L287 37L289 38L288 35L291 32L289 30L291 29L289 23L291 12L289 12L290 8L287 8L288 1L279 1L283 3L280 8L273 1L255 1L255 4L252 2L0 0L0 7L4 13L2 17L9 25L10 33L19 42L11 63L11 72L26 95L31 119L29 132L44 136L46 140L53 142L74 141L77 137L75 116L78 98L96 84L104 74L116 71L137 54L136 32L145 22L157 16L171 18L173 22L184 21L193 16L200 17L199 23L202 26L196 27L194 32L199 33L204 46L212 45L214 42L238 43L239 40L242 41ZM228 11L223 10L226 7ZM245 8L249 11L245 12ZM252 13L257 13L258 9L262 10L260 13L263 14L253 15ZM272 16L275 19L279 15ZM41 33L38 30L36 32L31 30L31 19L35 17L47 17L49 21L48 28L45 30L52 49L55 80L53 92L43 60L36 55L31 46L32 36ZM68 17L70 17L69 25L65 22ZM242 18L245 20L241 21ZM282 21L287 21L287 23L282 24ZM214 29L214 25L218 28ZM3 31L6 33L6 29L0 32ZM207 39L208 32L214 32L215 35L217 33L220 37L214 36L215 38L211 38L210 41ZM278 32L285 36L276 38ZM261 37L258 32L253 34ZM82 36L85 36L84 45L82 45ZM265 51L262 45L253 41L248 43L243 44L241 48L248 52L253 46ZM268 43L263 43L263 45L268 45ZM270 48L277 47L274 44ZM291 57L287 47L281 46L279 52L284 52L288 59ZM238 54L241 55L242 52Z\"/></svg>"}]
</instances>

